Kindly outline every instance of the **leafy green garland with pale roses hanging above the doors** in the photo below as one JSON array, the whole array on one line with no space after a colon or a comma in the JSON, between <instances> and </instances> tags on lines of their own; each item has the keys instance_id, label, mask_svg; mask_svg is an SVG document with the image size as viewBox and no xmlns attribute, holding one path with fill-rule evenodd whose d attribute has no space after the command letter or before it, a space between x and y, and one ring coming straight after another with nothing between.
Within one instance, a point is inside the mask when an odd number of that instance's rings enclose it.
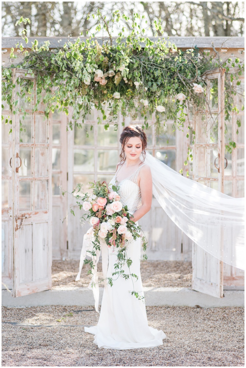
<instances>
[{"instance_id":1,"label":"leafy green garland with pale roses hanging above the doors","mask_svg":"<svg viewBox=\"0 0 246 368\"><path fill-rule=\"evenodd\" d=\"M90 16L95 17L95 14ZM75 42L68 41L57 49L49 49L49 41L39 46L38 40L35 40L31 48L16 45L23 55L22 61L2 71L2 99L7 101L13 114L19 110L25 117L23 104L31 100L33 89L31 79L17 78L19 89L17 99L13 100L13 89L16 87L12 81L13 67L24 68L26 76L29 74L36 79L37 98L33 112L38 110L40 101L45 105L46 117L56 109L68 115L68 106L71 106L70 129L74 125L82 127L94 107L102 113L102 120L98 117L98 123L104 122L106 130L110 123L114 123L117 129L119 112L123 117L122 125L127 114L130 114L133 119L141 116L143 128L148 128L148 118L155 113L157 134L167 119L173 120L174 129L182 129L187 111L192 106L196 106L200 112L205 110L206 72L217 68L225 68L225 120L230 119L230 112L238 112L233 102L236 89L232 83L235 79L239 85L239 75L244 71L244 64L238 58L234 62L231 59L222 61L215 49L214 58L213 55L199 52L196 46L183 52L164 37L153 42L145 36L145 29L138 25L138 20L142 20L144 15L137 13L133 14L131 34L126 36L122 27L113 40L113 32L109 29L113 29L115 24L120 27L121 17L130 22L129 17L124 14L121 16L117 10L107 20L100 9L96 16L100 21L96 31L103 29L108 36L102 39L101 45L95 39L95 34L90 34L86 41L78 37ZM30 20L21 17L17 24L22 23L30 23ZM163 34L161 20L155 21L154 26ZM28 43L26 32L23 29L22 38ZM14 48L10 57L16 58ZM216 96L216 91L210 92ZM82 119L82 124L79 119ZM11 124L11 117L5 122ZM239 127L240 120L237 120L237 124ZM187 134L187 138L190 135L191 145L194 143L195 130L191 124L188 128L190 134ZM190 145L185 165L192 160ZM230 140L227 150L235 147L235 142Z\"/></svg>"}]
</instances>

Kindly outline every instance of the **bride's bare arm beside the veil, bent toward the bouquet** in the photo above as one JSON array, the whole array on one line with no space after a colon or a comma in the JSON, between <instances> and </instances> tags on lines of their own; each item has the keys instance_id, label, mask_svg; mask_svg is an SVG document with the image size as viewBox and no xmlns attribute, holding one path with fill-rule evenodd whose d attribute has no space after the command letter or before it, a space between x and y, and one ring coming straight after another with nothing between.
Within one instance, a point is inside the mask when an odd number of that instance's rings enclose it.
<instances>
[{"instance_id":1,"label":"bride's bare arm beside the veil, bent toward the bouquet","mask_svg":"<svg viewBox=\"0 0 246 368\"><path fill-rule=\"evenodd\" d=\"M131 220L138 221L147 212L149 212L152 203L152 176L148 165L145 165L139 171L139 187L141 190L142 206L133 213Z\"/></svg>"}]
</instances>

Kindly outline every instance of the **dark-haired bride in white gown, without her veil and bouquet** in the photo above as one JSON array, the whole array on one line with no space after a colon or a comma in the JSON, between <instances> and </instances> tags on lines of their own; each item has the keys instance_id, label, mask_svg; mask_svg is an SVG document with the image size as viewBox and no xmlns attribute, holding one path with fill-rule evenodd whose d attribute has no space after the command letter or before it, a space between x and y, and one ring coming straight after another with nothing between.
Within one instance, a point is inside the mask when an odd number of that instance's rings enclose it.
<instances>
[{"instance_id":1,"label":"dark-haired bride in white gown, without her veil and bouquet","mask_svg":"<svg viewBox=\"0 0 246 368\"><path fill-rule=\"evenodd\" d=\"M150 167L140 159L141 154L146 154L147 137L138 125L128 126L122 131L120 142L121 161L108 187L119 185L121 202L123 206L127 205L131 220L138 224L138 220L150 210L152 201ZM102 256L104 245L101 243ZM113 248L107 247L107 277L112 277L115 271L117 254ZM140 277L140 250L140 238L129 241L127 256L132 259L131 272L139 276L138 280L134 280L134 290L144 296ZM148 326L145 304L143 300L132 296L129 293L131 290L132 280L122 276L113 282L112 287L105 283L97 326L85 327L85 332L95 335L94 343L99 348L126 350L163 345L165 333Z\"/></svg>"}]
</instances>

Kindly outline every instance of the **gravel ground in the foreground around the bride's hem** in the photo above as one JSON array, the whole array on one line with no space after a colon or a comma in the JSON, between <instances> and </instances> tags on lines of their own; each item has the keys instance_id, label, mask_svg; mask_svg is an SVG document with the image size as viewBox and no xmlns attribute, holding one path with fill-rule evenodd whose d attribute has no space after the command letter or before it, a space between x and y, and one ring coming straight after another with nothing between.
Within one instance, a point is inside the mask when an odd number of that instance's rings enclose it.
<instances>
[{"instance_id":1,"label":"gravel ground in the foreground around the bride's hem","mask_svg":"<svg viewBox=\"0 0 246 368\"><path fill-rule=\"evenodd\" d=\"M134 350L99 349L83 330L99 315L82 308L3 307L2 366L244 366L244 308L147 307L149 325L163 329L167 339Z\"/></svg>"}]
</instances>

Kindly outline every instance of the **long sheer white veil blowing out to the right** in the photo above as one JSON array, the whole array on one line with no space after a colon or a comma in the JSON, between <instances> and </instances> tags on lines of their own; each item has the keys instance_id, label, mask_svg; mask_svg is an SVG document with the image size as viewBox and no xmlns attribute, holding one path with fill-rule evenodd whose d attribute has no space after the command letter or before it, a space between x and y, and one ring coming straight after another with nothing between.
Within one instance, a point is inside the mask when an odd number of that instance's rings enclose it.
<instances>
[{"instance_id":1,"label":"long sheer white veil blowing out to the right","mask_svg":"<svg viewBox=\"0 0 246 368\"><path fill-rule=\"evenodd\" d=\"M244 198L183 177L149 152L144 162L151 169L154 197L179 229L208 253L244 270Z\"/></svg>"}]
</instances>

